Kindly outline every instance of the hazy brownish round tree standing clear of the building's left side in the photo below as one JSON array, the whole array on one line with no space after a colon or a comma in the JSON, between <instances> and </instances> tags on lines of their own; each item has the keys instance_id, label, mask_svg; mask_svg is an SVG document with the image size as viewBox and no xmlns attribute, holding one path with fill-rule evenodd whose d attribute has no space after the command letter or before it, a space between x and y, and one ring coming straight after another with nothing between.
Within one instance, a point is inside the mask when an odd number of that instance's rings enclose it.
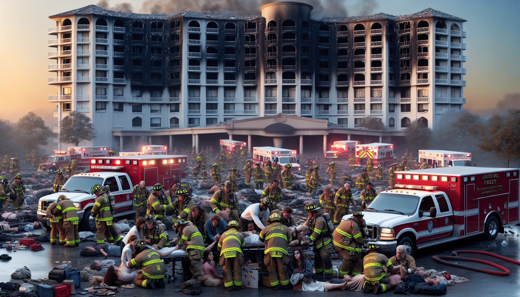
<instances>
[{"instance_id":1,"label":"hazy brownish round tree standing clear of the building's left side","mask_svg":"<svg viewBox=\"0 0 520 297\"><path fill-rule=\"evenodd\" d=\"M46 145L53 131L45 125L42 117L29 112L16 122L10 135L24 151L36 149L38 145Z\"/></svg>"}]
</instances>

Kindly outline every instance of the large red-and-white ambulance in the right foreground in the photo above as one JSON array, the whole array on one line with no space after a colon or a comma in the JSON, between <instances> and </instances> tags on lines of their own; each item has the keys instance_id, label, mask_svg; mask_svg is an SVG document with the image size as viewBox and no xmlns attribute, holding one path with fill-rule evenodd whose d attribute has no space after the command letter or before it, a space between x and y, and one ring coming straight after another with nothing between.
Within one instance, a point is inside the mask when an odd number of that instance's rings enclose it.
<instances>
[{"instance_id":1,"label":"large red-and-white ambulance in the right foreground","mask_svg":"<svg viewBox=\"0 0 520 297\"><path fill-rule=\"evenodd\" d=\"M413 255L477 234L495 239L518 224L518 175L519 169L472 166L397 171L395 188L363 212L368 240L385 254L395 255L402 244Z\"/></svg>"}]
</instances>

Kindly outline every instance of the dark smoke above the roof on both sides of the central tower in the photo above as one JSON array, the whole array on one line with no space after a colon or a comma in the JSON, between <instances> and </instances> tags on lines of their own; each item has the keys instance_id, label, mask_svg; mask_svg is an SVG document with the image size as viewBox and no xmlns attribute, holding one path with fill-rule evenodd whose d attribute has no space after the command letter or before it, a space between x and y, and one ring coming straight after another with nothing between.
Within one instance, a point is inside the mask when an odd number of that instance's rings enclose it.
<instances>
[{"instance_id":1,"label":"dark smoke above the roof on both sides of the central tower","mask_svg":"<svg viewBox=\"0 0 520 297\"><path fill-rule=\"evenodd\" d=\"M179 14L192 10L220 15L260 15L260 7L267 3L278 2L270 0L147 0L141 11L144 14ZM359 15L370 15L379 5L375 0L360 0L358 3L348 3L346 0L302 0L302 3L314 7L311 16L314 19L322 17L347 17L349 11Z\"/></svg>"}]
</instances>

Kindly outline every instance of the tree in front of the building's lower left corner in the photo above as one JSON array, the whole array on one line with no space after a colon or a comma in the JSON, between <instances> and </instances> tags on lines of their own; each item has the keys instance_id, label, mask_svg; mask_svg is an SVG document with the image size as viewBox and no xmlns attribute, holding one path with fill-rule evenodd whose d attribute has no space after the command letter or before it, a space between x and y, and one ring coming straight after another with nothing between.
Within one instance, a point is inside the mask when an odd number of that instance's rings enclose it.
<instances>
[{"instance_id":1,"label":"tree in front of the building's lower left corner","mask_svg":"<svg viewBox=\"0 0 520 297\"><path fill-rule=\"evenodd\" d=\"M94 125L85 114L72 111L61 120L59 141L78 146L83 140L92 140L96 137Z\"/></svg>"}]
</instances>

